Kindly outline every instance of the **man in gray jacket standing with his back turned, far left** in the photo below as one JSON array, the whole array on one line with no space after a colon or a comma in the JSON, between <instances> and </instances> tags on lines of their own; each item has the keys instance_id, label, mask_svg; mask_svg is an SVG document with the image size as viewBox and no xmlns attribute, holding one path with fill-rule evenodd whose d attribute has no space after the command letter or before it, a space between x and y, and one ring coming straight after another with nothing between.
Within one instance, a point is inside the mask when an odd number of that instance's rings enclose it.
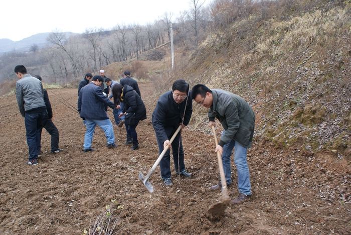
<instances>
[{"instance_id":1,"label":"man in gray jacket standing with his back turned, far left","mask_svg":"<svg viewBox=\"0 0 351 235\"><path fill-rule=\"evenodd\" d=\"M23 65L15 67L20 79L16 82L16 99L22 116L25 118L26 137L29 148L28 165L37 165L37 146L40 145L40 127L46 112L42 82L27 74Z\"/></svg>"}]
</instances>

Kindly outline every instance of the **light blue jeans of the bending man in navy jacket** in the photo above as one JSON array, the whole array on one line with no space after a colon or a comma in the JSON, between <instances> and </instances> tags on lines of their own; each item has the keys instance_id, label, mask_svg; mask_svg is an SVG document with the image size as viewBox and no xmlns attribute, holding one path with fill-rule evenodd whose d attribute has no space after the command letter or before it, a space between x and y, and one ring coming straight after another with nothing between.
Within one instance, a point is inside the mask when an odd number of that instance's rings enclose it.
<instances>
[{"instance_id":1,"label":"light blue jeans of the bending man in navy jacket","mask_svg":"<svg viewBox=\"0 0 351 235\"><path fill-rule=\"evenodd\" d=\"M93 141L96 125L98 125L105 132L107 143L114 144L113 127L109 119L104 119L104 120L85 119L85 123L87 127L87 132L85 133L84 145L83 145L85 149L91 149L91 142Z\"/></svg>"}]
</instances>

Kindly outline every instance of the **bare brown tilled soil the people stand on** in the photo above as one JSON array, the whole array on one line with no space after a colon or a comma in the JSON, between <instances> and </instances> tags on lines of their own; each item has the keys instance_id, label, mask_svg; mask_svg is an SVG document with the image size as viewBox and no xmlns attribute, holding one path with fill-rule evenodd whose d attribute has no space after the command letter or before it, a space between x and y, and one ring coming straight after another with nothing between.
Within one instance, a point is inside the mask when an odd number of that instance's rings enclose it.
<instances>
[{"instance_id":1,"label":"bare brown tilled soil the people stand on","mask_svg":"<svg viewBox=\"0 0 351 235\"><path fill-rule=\"evenodd\" d=\"M253 200L229 205L225 216L210 220L205 212L222 199L219 192L209 190L219 180L214 140L209 129L185 129L186 167L193 177L179 182L171 163L174 185L165 187L156 168L150 178L155 192L148 193L138 173L146 174L158 157L151 126L155 101L149 98L151 83L140 89L148 117L137 127L141 148L107 149L104 133L97 128L92 144L96 151L91 153L82 152L85 126L79 115L54 95L75 106L77 90L49 91L64 152L49 154L50 136L44 130L45 153L33 167L25 165L28 146L16 98L2 98L0 234L82 234L111 199L124 205L120 234L351 234L350 165L332 154L301 152L299 142L277 149L255 141L248 151ZM112 121L112 111L108 115ZM125 129L122 135L114 131L121 145ZM232 179L229 190L234 198L234 163Z\"/></svg>"}]
</instances>

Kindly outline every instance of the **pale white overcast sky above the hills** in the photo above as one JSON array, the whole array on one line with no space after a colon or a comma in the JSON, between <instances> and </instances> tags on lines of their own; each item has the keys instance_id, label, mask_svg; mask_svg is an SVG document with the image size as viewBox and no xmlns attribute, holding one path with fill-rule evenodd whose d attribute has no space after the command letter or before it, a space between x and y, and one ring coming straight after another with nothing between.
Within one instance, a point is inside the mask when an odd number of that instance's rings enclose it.
<instances>
[{"instance_id":1,"label":"pale white overcast sky above the hills","mask_svg":"<svg viewBox=\"0 0 351 235\"><path fill-rule=\"evenodd\" d=\"M6 0L0 4L0 39L19 41L55 29L83 33L86 28L111 29L122 23L145 25L164 12L172 12L175 22L180 11L190 9L189 3L190 0Z\"/></svg>"}]
</instances>

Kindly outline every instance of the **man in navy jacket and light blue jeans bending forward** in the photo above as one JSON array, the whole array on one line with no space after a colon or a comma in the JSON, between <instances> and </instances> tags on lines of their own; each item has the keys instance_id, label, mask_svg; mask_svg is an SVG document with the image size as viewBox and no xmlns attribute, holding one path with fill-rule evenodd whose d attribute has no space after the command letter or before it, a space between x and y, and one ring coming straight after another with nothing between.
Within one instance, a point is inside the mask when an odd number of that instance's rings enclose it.
<instances>
[{"instance_id":1,"label":"man in navy jacket and light blue jeans bending forward","mask_svg":"<svg viewBox=\"0 0 351 235\"><path fill-rule=\"evenodd\" d=\"M82 100L80 117L85 118L87 131L84 138L83 152L91 152L94 149L91 148L91 142L93 141L94 130L98 125L104 132L107 138L106 147L117 148L115 145L115 138L113 133L112 123L109 120L104 104L107 104L110 108L114 109L114 104L109 100L100 88L103 82L103 78L99 75L95 75L88 85L84 86L79 96Z\"/></svg>"}]
</instances>

